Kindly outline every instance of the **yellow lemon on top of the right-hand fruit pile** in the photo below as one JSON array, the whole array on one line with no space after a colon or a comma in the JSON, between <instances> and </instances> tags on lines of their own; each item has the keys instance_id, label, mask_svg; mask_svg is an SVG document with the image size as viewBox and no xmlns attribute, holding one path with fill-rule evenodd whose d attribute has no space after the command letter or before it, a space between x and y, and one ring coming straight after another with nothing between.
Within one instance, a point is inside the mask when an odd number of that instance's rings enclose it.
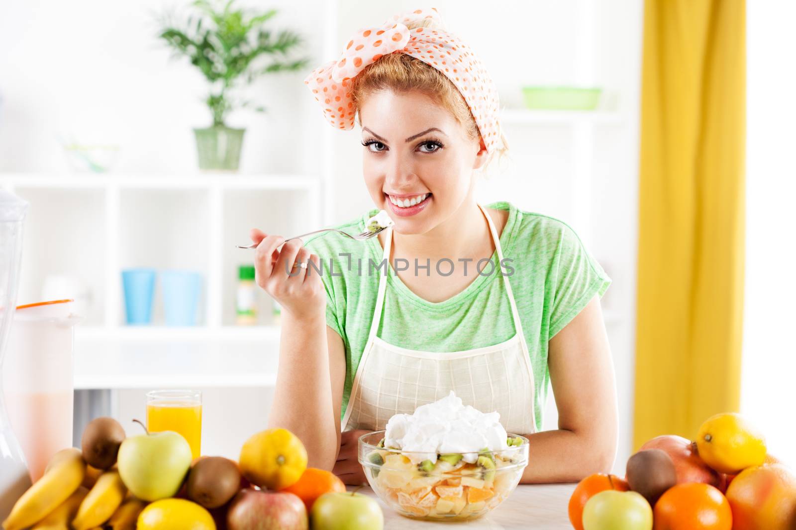
<instances>
[{"instance_id":1,"label":"yellow lemon on top of the right-hand fruit pile","mask_svg":"<svg viewBox=\"0 0 796 530\"><path fill-rule=\"evenodd\" d=\"M766 439L735 413L708 418L696 436L696 447L704 462L720 473L737 474L766 460Z\"/></svg>"}]
</instances>

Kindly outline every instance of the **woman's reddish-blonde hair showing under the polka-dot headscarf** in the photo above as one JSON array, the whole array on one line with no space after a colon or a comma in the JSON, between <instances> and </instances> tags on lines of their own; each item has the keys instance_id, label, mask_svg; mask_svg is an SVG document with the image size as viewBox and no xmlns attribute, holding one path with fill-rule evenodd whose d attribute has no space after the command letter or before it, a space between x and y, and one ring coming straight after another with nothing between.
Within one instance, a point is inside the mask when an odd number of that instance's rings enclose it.
<instances>
[{"instance_id":1,"label":"woman's reddish-blonde hair showing under the polka-dot headscarf","mask_svg":"<svg viewBox=\"0 0 796 530\"><path fill-rule=\"evenodd\" d=\"M431 18L413 22L408 25L408 29L419 27L437 27ZM443 72L424 63L422 60L408 56L405 53L390 53L380 57L375 63L370 64L358 75L351 79L351 97L353 99L354 111L357 113L357 121L362 126L362 104L365 99L378 91L394 91L397 93L417 91L428 95L436 103L445 107L456 121L464 126L466 136L470 140L478 140L481 133L475 122L470 106L467 105L464 96L458 91L456 85L448 79ZM500 126L498 124L498 129ZM501 130L500 141L493 153L490 153L482 170L490 165L494 156L498 155L498 160L508 155L509 145Z\"/></svg>"}]
</instances>

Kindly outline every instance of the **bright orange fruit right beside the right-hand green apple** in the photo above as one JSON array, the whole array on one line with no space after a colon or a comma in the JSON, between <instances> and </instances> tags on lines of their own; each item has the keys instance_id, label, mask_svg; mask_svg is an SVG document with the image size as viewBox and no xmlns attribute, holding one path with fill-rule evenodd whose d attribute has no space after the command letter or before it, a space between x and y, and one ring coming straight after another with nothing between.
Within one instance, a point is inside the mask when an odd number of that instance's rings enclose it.
<instances>
[{"instance_id":1,"label":"bright orange fruit right beside the right-hand green apple","mask_svg":"<svg viewBox=\"0 0 796 530\"><path fill-rule=\"evenodd\" d=\"M653 510L655 530L732 530L727 498L709 484L692 482L666 490Z\"/></svg>"}]
</instances>

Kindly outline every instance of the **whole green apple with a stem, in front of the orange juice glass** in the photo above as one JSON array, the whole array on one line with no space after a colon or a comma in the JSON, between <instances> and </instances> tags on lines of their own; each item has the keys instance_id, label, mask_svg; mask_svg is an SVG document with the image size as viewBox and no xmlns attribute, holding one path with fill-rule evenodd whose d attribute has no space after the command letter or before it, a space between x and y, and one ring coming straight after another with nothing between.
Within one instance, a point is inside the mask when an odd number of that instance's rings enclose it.
<instances>
[{"instance_id":1,"label":"whole green apple with a stem, in front of the orange juice glass","mask_svg":"<svg viewBox=\"0 0 796 530\"><path fill-rule=\"evenodd\" d=\"M177 432L147 431L122 442L117 465L122 482L135 497L158 501L179 491L191 466L191 447Z\"/></svg>"}]
</instances>

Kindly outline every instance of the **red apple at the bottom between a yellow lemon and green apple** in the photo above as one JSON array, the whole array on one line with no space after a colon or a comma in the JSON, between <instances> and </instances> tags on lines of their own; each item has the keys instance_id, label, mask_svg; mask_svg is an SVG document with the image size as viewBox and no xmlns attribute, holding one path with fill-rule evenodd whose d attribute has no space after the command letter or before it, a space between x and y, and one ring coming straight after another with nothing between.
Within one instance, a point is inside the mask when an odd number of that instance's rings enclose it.
<instances>
[{"instance_id":1,"label":"red apple at the bottom between a yellow lemon and green apple","mask_svg":"<svg viewBox=\"0 0 796 530\"><path fill-rule=\"evenodd\" d=\"M227 512L229 530L307 530L306 507L293 493L241 489Z\"/></svg>"}]
</instances>

